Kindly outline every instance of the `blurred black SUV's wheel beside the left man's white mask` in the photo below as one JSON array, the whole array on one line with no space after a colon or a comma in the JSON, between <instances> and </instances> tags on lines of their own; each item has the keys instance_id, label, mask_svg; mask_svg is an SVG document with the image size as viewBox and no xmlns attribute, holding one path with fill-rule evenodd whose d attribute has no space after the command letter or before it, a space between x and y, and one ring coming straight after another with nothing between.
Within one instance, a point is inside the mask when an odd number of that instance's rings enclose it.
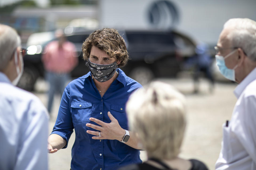
<instances>
[{"instance_id":1,"label":"blurred black SUV's wheel beside the left man's white mask","mask_svg":"<svg viewBox=\"0 0 256 170\"><path fill-rule=\"evenodd\" d=\"M27 91L33 91L37 78L37 70L33 68L24 67L23 74L17 86Z\"/></svg>"}]
</instances>

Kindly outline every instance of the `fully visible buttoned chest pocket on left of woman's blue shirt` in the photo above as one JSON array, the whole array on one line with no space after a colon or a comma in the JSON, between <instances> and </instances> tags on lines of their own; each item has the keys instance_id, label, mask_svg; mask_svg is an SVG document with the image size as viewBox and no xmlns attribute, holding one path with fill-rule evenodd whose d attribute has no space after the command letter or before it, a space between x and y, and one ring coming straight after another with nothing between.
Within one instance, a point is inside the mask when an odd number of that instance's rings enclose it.
<instances>
[{"instance_id":1,"label":"fully visible buttoned chest pocket on left of woman's blue shirt","mask_svg":"<svg viewBox=\"0 0 256 170\"><path fill-rule=\"evenodd\" d=\"M86 122L90 121L89 118L92 114L91 102L81 101L71 103L71 114L73 122Z\"/></svg>"}]
</instances>

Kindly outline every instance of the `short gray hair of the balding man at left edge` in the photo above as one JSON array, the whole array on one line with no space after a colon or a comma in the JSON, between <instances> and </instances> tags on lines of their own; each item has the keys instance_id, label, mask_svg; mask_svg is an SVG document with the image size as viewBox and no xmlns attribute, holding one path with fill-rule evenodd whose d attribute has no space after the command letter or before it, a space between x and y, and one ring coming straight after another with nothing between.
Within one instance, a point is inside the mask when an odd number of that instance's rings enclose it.
<instances>
[{"instance_id":1,"label":"short gray hair of the balding man at left edge","mask_svg":"<svg viewBox=\"0 0 256 170\"><path fill-rule=\"evenodd\" d=\"M14 50L21 45L21 39L15 29L0 24L0 71L10 61Z\"/></svg>"}]
</instances>

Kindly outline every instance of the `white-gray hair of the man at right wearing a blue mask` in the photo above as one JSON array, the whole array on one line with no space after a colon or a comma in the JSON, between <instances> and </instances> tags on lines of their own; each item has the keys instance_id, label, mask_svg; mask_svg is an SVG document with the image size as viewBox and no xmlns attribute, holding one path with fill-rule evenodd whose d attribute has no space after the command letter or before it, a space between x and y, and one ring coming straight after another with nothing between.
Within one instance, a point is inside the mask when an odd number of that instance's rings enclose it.
<instances>
[{"instance_id":1,"label":"white-gray hair of the man at right wearing a blue mask","mask_svg":"<svg viewBox=\"0 0 256 170\"><path fill-rule=\"evenodd\" d=\"M256 22L249 18L232 18L224 28L232 29L228 38L233 47L240 47L252 61L256 61Z\"/></svg>"}]
</instances>

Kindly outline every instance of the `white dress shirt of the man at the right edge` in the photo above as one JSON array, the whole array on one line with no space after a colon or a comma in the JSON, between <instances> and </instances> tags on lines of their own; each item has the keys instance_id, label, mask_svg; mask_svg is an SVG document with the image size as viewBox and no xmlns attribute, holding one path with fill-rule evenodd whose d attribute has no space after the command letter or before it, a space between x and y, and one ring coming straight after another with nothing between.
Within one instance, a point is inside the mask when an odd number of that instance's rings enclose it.
<instances>
[{"instance_id":1,"label":"white dress shirt of the man at the right edge","mask_svg":"<svg viewBox=\"0 0 256 170\"><path fill-rule=\"evenodd\" d=\"M238 98L231 120L223 124L223 140L215 168L256 169L256 68L235 88Z\"/></svg>"}]
</instances>

